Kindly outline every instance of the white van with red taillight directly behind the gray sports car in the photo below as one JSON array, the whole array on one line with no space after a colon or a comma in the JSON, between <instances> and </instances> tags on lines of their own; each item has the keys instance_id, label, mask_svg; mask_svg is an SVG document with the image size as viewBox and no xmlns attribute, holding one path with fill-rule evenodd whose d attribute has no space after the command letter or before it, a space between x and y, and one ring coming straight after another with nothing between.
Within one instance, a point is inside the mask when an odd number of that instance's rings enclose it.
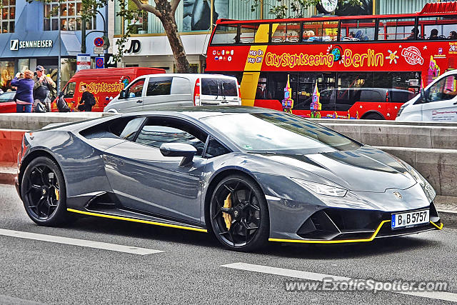
<instances>
[{"instance_id":1,"label":"white van with red taillight directly behind the gray sports car","mask_svg":"<svg viewBox=\"0 0 457 305\"><path fill-rule=\"evenodd\" d=\"M192 105L241 105L238 81L232 76L214 74L139 76L104 111L149 111Z\"/></svg>"}]
</instances>

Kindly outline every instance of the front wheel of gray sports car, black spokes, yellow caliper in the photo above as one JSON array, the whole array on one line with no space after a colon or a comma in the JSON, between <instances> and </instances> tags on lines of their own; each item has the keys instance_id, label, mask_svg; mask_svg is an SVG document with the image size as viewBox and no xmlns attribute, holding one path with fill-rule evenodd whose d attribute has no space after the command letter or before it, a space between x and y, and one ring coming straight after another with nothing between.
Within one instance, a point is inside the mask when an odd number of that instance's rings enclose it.
<instances>
[{"instance_id":1,"label":"front wheel of gray sports car, black spokes, yellow caliper","mask_svg":"<svg viewBox=\"0 0 457 305\"><path fill-rule=\"evenodd\" d=\"M241 175L222 179L214 189L209 215L216 238L229 249L253 251L268 241L268 207L252 179Z\"/></svg>"}]
</instances>

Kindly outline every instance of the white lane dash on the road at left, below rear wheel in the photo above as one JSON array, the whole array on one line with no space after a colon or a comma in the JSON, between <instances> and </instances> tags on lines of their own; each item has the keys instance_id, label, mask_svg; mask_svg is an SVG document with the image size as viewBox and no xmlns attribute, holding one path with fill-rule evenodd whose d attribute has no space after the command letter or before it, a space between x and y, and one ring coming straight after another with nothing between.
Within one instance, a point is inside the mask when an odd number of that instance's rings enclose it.
<instances>
[{"instance_id":1,"label":"white lane dash on the road at left, below rear wheel","mask_svg":"<svg viewBox=\"0 0 457 305\"><path fill-rule=\"evenodd\" d=\"M120 244L104 243L101 241L86 241L84 239L71 239L69 237L36 234L36 233L6 230L6 229L0 229L0 235L19 237L20 239L34 239L36 241L49 241L51 243L57 243L57 244L84 246L86 248L104 249L104 250L109 250L109 251L118 251L118 252L139 254L139 255L156 254L156 253L162 252L162 251L154 250L154 249L139 248L137 246L124 246L124 245L120 245Z\"/></svg>"}]
</instances>

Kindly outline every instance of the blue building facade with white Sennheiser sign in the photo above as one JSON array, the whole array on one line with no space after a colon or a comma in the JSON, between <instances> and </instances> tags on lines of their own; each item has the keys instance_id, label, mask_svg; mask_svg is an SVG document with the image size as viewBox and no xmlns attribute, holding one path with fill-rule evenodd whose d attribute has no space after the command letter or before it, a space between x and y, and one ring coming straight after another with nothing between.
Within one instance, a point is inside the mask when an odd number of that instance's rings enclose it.
<instances>
[{"instance_id":1,"label":"blue building facade with white Sennheiser sign","mask_svg":"<svg viewBox=\"0 0 457 305\"><path fill-rule=\"evenodd\" d=\"M35 70L41 65L54 81L58 79L61 55L61 88L76 71L76 55L81 53L81 0L41 1L1 0L0 87L9 89L17 71ZM106 9L100 11L105 17ZM98 14L87 21L86 31L104 30ZM87 35L86 54L95 56L94 38Z\"/></svg>"}]
</instances>

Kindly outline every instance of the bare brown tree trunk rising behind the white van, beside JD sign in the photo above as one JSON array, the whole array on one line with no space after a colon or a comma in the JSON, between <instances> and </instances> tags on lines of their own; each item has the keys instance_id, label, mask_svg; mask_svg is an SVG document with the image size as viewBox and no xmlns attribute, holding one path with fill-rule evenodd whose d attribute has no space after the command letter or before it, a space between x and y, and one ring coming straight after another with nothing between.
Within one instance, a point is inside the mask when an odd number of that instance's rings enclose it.
<instances>
[{"instance_id":1,"label":"bare brown tree trunk rising behind the white van, beside JD sign","mask_svg":"<svg viewBox=\"0 0 457 305\"><path fill-rule=\"evenodd\" d=\"M176 62L176 70L178 73L190 73L191 67L187 61L186 51L184 50L181 36L178 33L178 26L174 14L167 12L160 18L164 25L166 36L169 39L171 50L173 51L174 60Z\"/></svg>"}]
</instances>

